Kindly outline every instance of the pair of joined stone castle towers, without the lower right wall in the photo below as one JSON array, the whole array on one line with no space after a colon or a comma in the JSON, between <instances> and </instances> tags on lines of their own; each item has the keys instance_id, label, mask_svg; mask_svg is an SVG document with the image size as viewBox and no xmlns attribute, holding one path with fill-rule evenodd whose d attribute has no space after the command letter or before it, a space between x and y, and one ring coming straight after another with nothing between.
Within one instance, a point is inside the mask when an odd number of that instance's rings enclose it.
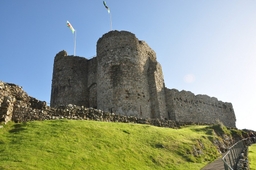
<instances>
[{"instance_id":1,"label":"pair of joined stone castle towers, without the lower right wall","mask_svg":"<svg viewBox=\"0 0 256 170\"><path fill-rule=\"evenodd\" d=\"M166 118L164 79L155 52L130 32L111 31L98 40L97 57L90 60L58 53L51 106L69 103L126 116Z\"/></svg>"}]
</instances>

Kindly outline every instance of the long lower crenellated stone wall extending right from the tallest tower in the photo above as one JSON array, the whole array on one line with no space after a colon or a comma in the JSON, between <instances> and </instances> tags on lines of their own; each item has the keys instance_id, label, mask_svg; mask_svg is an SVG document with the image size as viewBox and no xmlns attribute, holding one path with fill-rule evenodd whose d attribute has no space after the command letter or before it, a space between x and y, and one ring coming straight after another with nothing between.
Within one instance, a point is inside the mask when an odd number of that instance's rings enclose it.
<instances>
[{"instance_id":1,"label":"long lower crenellated stone wall extending right from the tallest tower","mask_svg":"<svg viewBox=\"0 0 256 170\"><path fill-rule=\"evenodd\" d=\"M218 101L217 98L207 95L194 95L184 90L166 88L165 91L170 119L208 124L220 121L227 127L236 127L236 117L231 103Z\"/></svg>"}]
</instances>

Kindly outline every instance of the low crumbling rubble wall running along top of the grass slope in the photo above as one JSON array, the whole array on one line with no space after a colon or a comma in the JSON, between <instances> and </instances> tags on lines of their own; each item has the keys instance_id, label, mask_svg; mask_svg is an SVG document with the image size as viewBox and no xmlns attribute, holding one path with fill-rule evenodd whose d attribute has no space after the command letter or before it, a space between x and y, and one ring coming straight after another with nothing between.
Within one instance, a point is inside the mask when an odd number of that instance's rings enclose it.
<instances>
[{"instance_id":1,"label":"low crumbling rubble wall running along top of the grass slope","mask_svg":"<svg viewBox=\"0 0 256 170\"><path fill-rule=\"evenodd\" d=\"M28 96L22 87L0 81L0 124L9 121L22 123L56 119L140 123L170 128L177 128L189 124L200 124L196 122L176 122L173 120L124 116L72 104L57 108L49 107L46 105L46 102Z\"/></svg>"}]
</instances>

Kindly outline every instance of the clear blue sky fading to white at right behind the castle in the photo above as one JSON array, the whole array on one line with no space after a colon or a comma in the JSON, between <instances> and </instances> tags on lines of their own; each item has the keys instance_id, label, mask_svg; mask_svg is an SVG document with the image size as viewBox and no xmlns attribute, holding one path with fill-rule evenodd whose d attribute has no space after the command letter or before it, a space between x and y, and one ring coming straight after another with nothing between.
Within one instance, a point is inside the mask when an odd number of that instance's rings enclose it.
<instances>
[{"instance_id":1,"label":"clear blue sky fading to white at right behind the castle","mask_svg":"<svg viewBox=\"0 0 256 170\"><path fill-rule=\"evenodd\" d=\"M237 127L256 130L255 0L108 0L113 29L155 50L168 88L233 104ZM0 80L50 102L53 60L66 50L96 55L110 30L101 0L1 0Z\"/></svg>"}]
</instances>

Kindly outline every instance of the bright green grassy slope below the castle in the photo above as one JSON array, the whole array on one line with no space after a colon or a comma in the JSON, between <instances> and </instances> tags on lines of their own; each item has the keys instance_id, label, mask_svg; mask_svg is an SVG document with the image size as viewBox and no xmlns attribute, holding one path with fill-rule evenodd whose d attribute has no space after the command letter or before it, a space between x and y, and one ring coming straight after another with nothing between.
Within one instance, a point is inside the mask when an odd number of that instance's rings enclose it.
<instances>
[{"instance_id":1,"label":"bright green grassy slope below the castle","mask_svg":"<svg viewBox=\"0 0 256 170\"><path fill-rule=\"evenodd\" d=\"M0 170L198 170L220 156L211 142L217 138L213 127L72 120L8 123L0 128Z\"/></svg>"}]
</instances>

